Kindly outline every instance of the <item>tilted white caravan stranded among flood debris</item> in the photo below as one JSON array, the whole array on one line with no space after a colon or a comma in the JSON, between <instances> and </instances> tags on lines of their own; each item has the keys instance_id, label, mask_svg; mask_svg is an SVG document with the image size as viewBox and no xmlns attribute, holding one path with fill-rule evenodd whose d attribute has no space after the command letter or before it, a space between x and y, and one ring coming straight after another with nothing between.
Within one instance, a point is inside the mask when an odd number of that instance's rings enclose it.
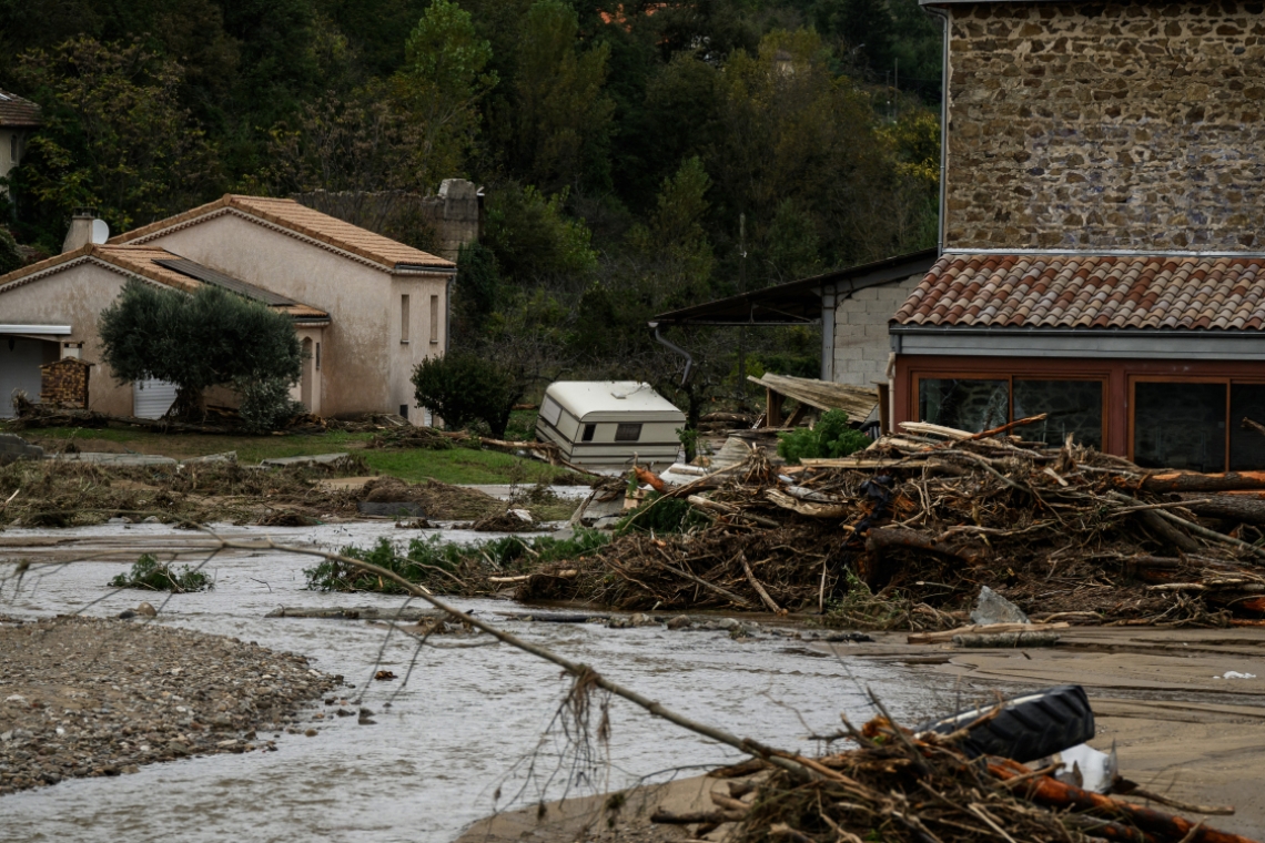
<instances>
[{"instance_id":1,"label":"tilted white caravan stranded among flood debris","mask_svg":"<svg viewBox=\"0 0 1265 843\"><path fill-rule=\"evenodd\" d=\"M673 463L686 415L648 383L559 380L545 389L536 439L562 449L569 463Z\"/></svg>"}]
</instances>

